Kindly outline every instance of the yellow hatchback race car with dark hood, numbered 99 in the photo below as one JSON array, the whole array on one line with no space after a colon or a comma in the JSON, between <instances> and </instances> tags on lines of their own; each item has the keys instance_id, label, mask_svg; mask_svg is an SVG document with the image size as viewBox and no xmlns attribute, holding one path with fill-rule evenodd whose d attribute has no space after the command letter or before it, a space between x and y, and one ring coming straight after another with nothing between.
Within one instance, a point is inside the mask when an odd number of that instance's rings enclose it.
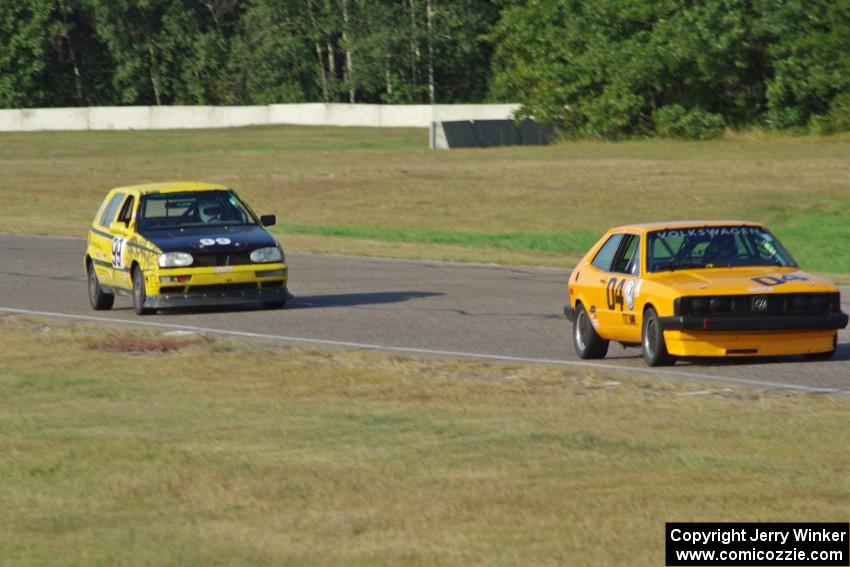
<instances>
[{"instance_id":1,"label":"yellow hatchback race car with dark hood, numbered 99","mask_svg":"<svg viewBox=\"0 0 850 567\"><path fill-rule=\"evenodd\" d=\"M139 315L170 307L286 303L283 249L224 185L153 183L112 189L88 233L93 309L131 295Z\"/></svg>"}]
</instances>

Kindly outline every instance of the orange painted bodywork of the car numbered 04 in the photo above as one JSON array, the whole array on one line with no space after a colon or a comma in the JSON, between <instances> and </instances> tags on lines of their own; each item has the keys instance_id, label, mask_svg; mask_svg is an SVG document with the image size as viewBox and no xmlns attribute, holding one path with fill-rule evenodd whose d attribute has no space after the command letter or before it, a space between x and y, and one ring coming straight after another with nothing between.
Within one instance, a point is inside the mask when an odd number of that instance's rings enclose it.
<instances>
[{"instance_id":1,"label":"orange painted bodywork of the car numbered 04","mask_svg":"<svg viewBox=\"0 0 850 567\"><path fill-rule=\"evenodd\" d=\"M651 308L664 327L667 351L677 357L775 356L833 351L837 329L847 324L847 316L833 305L840 305L839 290L826 279L804 272L796 265L715 267L706 264L667 271L653 264L655 269L648 269L650 233L678 235L685 234L683 231L703 230L705 234L716 235L730 227L769 234L763 225L734 220L635 224L609 230L573 269L567 284L565 313L575 320L579 309L583 309L596 335L603 341L638 345L644 339L645 317ZM606 269L608 252L603 247L608 246L609 239L611 242L617 240L612 238L614 235L622 235L619 238L622 246L625 242L637 242L636 251L630 256L629 264L618 265L624 253L618 248ZM710 238L706 237L706 248L711 245ZM654 236L654 243L658 240ZM778 241L771 242L784 252ZM672 256L672 250L670 254ZM600 257L602 261L598 260ZM810 301L812 305L815 301L819 306L824 301L830 302L830 307L824 308L829 313L823 317L818 315L818 318L792 311L786 304L798 296L803 297L799 301ZM815 296L817 300L808 299ZM739 309L740 313L710 311L708 306L714 308L711 302L715 298L719 298L716 299L719 306L728 304L730 311ZM756 300L758 306L754 303ZM705 307L698 311L692 309L695 305ZM753 311L762 305L766 306L764 314ZM785 311L780 313L782 309ZM776 316L770 317L768 310ZM788 316L783 317L783 314ZM819 325L823 328L818 328Z\"/></svg>"}]
</instances>

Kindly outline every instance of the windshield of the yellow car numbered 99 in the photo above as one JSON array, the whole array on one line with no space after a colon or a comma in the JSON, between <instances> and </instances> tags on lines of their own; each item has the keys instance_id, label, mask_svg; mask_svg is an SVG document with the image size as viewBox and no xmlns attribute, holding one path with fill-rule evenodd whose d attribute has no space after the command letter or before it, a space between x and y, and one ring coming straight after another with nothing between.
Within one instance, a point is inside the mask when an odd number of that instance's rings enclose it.
<instances>
[{"instance_id":1,"label":"windshield of the yellow car numbered 99","mask_svg":"<svg viewBox=\"0 0 850 567\"><path fill-rule=\"evenodd\" d=\"M257 224L232 191L186 191L145 195L139 230Z\"/></svg>"}]
</instances>

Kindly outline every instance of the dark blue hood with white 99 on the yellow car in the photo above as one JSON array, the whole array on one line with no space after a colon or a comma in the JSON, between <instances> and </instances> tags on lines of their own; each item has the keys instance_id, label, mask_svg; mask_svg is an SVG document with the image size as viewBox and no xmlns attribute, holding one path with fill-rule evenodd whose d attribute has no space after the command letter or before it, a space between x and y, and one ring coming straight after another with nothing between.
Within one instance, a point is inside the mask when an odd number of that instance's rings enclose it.
<instances>
[{"instance_id":1,"label":"dark blue hood with white 99 on the yellow car","mask_svg":"<svg viewBox=\"0 0 850 567\"><path fill-rule=\"evenodd\" d=\"M237 252L277 245L261 226L192 227L141 234L163 252Z\"/></svg>"}]
</instances>

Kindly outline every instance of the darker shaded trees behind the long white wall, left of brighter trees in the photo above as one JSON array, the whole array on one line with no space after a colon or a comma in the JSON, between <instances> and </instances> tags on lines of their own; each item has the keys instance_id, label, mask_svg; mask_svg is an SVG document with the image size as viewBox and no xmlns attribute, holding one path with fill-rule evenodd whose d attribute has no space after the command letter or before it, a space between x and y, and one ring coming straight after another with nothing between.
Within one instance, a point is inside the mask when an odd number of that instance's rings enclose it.
<instances>
[{"instance_id":1,"label":"darker shaded trees behind the long white wall, left of brighter trees","mask_svg":"<svg viewBox=\"0 0 850 567\"><path fill-rule=\"evenodd\" d=\"M0 0L0 107L486 97L489 0Z\"/></svg>"}]
</instances>

